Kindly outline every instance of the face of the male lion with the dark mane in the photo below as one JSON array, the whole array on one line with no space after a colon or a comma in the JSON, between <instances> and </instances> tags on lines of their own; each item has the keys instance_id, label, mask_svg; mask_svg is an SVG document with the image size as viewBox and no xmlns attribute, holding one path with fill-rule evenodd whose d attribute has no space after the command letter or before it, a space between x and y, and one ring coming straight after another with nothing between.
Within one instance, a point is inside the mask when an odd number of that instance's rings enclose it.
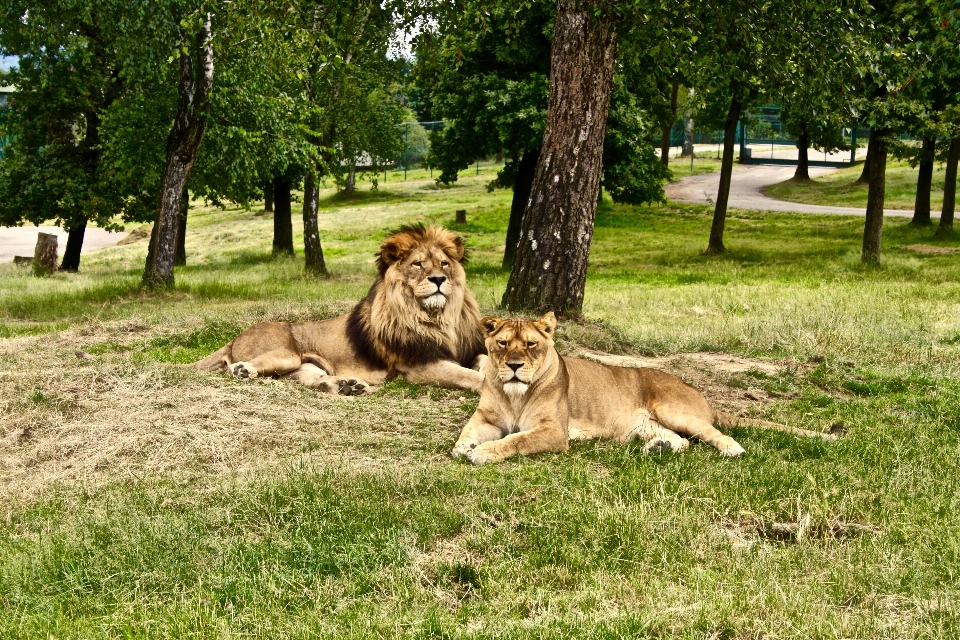
<instances>
[{"instance_id":1,"label":"face of the male lion with the dark mane","mask_svg":"<svg viewBox=\"0 0 960 640\"><path fill-rule=\"evenodd\" d=\"M378 264L387 284L431 312L463 300L463 241L437 227L401 230L384 241Z\"/></svg>"}]
</instances>

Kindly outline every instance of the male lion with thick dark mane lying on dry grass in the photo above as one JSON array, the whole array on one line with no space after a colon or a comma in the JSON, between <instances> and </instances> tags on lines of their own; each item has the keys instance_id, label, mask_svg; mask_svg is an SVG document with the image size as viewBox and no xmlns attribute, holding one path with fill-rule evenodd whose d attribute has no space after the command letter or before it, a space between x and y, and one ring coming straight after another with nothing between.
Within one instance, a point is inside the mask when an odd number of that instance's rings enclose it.
<instances>
[{"instance_id":1,"label":"male lion with thick dark mane lying on dry grass","mask_svg":"<svg viewBox=\"0 0 960 640\"><path fill-rule=\"evenodd\" d=\"M395 376L479 391L480 311L467 289L463 241L446 229L401 227L377 253L377 279L350 313L321 322L255 324L193 366L241 379L288 376L363 395Z\"/></svg>"}]
</instances>

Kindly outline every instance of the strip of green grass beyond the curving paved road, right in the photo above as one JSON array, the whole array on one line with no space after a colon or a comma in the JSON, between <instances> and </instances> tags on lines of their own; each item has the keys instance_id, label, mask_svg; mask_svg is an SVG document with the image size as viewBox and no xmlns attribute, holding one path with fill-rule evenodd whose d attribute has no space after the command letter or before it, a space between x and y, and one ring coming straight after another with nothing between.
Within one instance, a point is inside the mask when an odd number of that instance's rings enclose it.
<instances>
[{"instance_id":1,"label":"strip of green grass beyond the curving paved road, right","mask_svg":"<svg viewBox=\"0 0 960 640\"><path fill-rule=\"evenodd\" d=\"M863 164L860 163L810 182L790 179L767 187L764 193L771 198L804 204L863 208L867 206L867 185L857 184L857 178L862 171ZM930 207L934 214L939 212L943 205L943 180L944 165L941 163L934 167L930 189ZM884 207L913 210L916 196L917 169L906 162L888 162Z\"/></svg>"}]
</instances>

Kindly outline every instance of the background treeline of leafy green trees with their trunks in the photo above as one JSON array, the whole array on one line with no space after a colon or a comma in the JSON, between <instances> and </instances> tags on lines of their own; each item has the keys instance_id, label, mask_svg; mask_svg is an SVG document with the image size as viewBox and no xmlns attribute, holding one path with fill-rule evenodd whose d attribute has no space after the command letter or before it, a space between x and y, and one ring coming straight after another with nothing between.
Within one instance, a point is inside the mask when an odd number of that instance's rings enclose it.
<instances>
[{"instance_id":1,"label":"background treeline of leafy green trees with their trunks","mask_svg":"<svg viewBox=\"0 0 960 640\"><path fill-rule=\"evenodd\" d=\"M443 120L426 157L439 183L479 157L504 158L490 188L514 192L505 305L575 314L598 192L662 200L674 122L722 130L706 248L722 253L737 123L778 103L801 180L808 148L842 149L843 127L870 127L863 260L878 264L889 154L920 167L918 226L931 224L930 175L946 162L938 233L953 233L958 15L956 0L802 0L789 11L739 1L4 0L0 53L20 63L4 79L18 93L3 124L13 143L0 163L0 223L56 221L70 234L63 268L76 269L89 222L153 221L144 283L170 286L186 259L184 194L265 199L274 252L292 254L291 194L302 189L306 269L323 275L319 186L349 193L365 173L376 186L403 153L398 125ZM922 142L900 142L904 132ZM528 225L536 233L522 235ZM531 275L538 246L537 263L567 284Z\"/></svg>"}]
</instances>

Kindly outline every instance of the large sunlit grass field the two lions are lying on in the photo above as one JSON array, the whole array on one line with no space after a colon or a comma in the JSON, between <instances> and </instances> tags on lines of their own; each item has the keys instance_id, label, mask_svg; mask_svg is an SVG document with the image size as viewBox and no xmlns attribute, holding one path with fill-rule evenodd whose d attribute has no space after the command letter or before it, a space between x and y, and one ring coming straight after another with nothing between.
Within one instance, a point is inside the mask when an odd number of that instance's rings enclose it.
<instances>
[{"instance_id":1,"label":"large sunlit grass field the two lions are lying on","mask_svg":"<svg viewBox=\"0 0 960 640\"><path fill-rule=\"evenodd\" d=\"M0 637L960 635L960 243L905 221L864 269L861 219L731 211L705 258L709 207L607 201L586 321L561 329L730 410L843 422L836 443L738 429L738 460L588 442L474 468L449 450L475 394L177 366L344 312L388 230L456 209L496 311L492 171L324 192L327 280L271 258L268 216L202 207L171 293L138 289L143 241L78 274L0 266Z\"/></svg>"}]
</instances>

